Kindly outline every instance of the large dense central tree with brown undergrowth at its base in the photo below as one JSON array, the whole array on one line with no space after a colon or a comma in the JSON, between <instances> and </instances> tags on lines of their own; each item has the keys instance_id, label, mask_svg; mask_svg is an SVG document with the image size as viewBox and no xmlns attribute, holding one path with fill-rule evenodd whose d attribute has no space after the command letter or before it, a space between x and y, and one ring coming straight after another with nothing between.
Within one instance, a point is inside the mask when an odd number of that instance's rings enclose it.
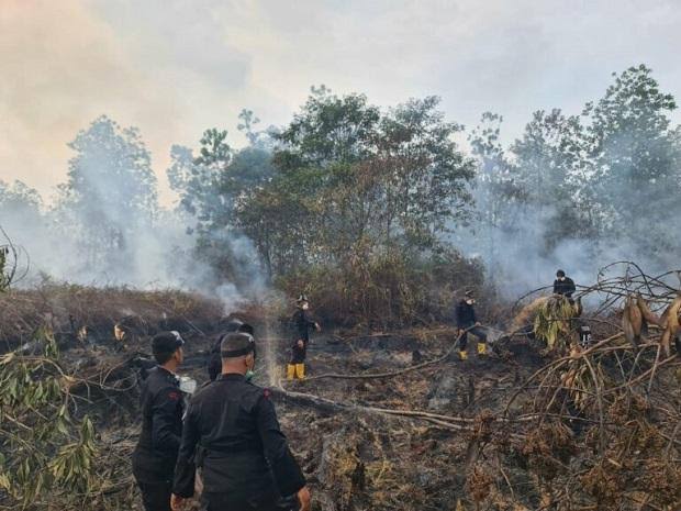
<instances>
[{"instance_id":1,"label":"large dense central tree with brown undergrowth at its base","mask_svg":"<svg viewBox=\"0 0 681 511\"><path fill-rule=\"evenodd\" d=\"M269 275L310 290L326 318L405 324L424 312L426 268L469 218L473 176L438 101L381 112L365 96L314 89L277 136L271 179L236 204Z\"/></svg>"}]
</instances>

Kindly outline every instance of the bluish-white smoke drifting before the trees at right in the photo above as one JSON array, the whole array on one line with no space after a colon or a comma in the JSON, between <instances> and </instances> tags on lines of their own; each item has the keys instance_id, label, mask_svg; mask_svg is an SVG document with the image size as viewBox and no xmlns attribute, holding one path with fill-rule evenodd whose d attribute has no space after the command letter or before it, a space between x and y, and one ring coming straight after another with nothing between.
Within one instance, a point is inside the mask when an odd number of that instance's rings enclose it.
<instances>
[{"instance_id":1,"label":"bluish-white smoke drifting before the trees at right","mask_svg":"<svg viewBox=\"0 0 681 511\"><path fill-rule=\"evenodd\" d=\"M616 197L633 192L626 181L610 185ZM652 201L665 201L669 191ZM473 190L480 199L480 190ZM551 222L559 210L551 205L507 204L505 220L492 224L479 216L468 229L459 230L450 241L468 257L484 263L485 278L501 297L518 297L544 287L549 287L558 269L563 269L578 286L592 286L599 271L615 262L627 260L638 264L648 275L661 275L679 267L681 232L669 229L678 225L681 218L681 201L667 204L668 211L632 218L626 229L617 227L615 219L604 226L598 237L560 238L560 224ZM594 209L596 205L594 204ZM547 247L546 240L560 241ZM678 282L676 282L678 285ZM549 291L549 290L545 290Z\"/></svg>"}]
</instances>

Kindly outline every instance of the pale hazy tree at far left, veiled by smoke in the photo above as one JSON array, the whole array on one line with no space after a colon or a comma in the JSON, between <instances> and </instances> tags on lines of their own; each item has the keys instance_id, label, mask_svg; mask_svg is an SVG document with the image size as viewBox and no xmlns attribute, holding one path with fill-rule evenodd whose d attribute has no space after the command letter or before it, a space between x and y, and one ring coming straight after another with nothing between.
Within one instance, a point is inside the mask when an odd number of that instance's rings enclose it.
<instances>
[{"instance_id":1,"label":"pale hazy tree at far left, veiled by smoke","mask_svg":"<svg viewBox=\"0 0 681 511\"><path fill-rule=\"evenodd\" d=\"M67 181L59 211L93 267L125 268L131 244L157 211L156 176L135 127L122 129L105 115L69 144Z\"/></svg>"}]
</instances>

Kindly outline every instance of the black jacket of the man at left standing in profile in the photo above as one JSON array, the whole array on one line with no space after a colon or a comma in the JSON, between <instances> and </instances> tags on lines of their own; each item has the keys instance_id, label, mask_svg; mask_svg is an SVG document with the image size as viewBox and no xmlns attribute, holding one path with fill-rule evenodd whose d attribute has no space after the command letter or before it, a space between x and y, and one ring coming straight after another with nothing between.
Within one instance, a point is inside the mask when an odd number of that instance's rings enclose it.
<instances>
[{"instance_id":1,"label":"black jacket of the man at left standing in profile","mask_svg":"<svg viewBox=\"0 0 681 511\"><path fill-rule=\"evenodd\" d=\"M182 434L179 380L156 366L144 380L139 401L142 433L133 453L133 474L141 482L171 480Z\"/></svg>"}]
</instances>

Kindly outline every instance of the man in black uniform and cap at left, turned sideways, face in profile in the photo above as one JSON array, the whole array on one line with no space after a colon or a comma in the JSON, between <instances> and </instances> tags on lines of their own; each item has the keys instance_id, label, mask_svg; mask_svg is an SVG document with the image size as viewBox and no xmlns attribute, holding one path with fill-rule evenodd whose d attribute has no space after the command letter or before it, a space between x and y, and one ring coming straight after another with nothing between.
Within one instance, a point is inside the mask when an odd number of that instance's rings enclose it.
<instances>
[{"instance_id":1,"label":"man in black uniform and cap at left, turned sideways, face in profile","mask_svg":"<svg viewBox=\"0 0 681 511\"><path fill-rule=\"evenodd\" d=\"M175 371L185 357L183 344L177 332L161 332L152 340L158 366L148 370L142 387L142 433L133 453L133 475L146 511L170 511L183 408Z\"/></svg>"}]
</instances>

